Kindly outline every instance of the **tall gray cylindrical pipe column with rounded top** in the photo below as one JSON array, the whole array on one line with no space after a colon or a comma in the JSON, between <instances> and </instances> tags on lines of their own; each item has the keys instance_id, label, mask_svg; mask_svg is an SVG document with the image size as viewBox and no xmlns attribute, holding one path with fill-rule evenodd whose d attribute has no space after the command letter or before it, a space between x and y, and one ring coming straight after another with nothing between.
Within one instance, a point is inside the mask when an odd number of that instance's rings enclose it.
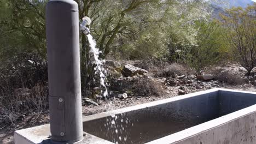
<instances>
[{"instance_id":1,"label":"tall gray cylindrical pipe column with rounded top","mask_svg":"<svg viewBox=\"0 0 256 144\"><path fill-rule=\"evenodd\" d=\"M83 140L78 4L46 5L50 129L52 143Z\"/></svg>"}]
</instances>

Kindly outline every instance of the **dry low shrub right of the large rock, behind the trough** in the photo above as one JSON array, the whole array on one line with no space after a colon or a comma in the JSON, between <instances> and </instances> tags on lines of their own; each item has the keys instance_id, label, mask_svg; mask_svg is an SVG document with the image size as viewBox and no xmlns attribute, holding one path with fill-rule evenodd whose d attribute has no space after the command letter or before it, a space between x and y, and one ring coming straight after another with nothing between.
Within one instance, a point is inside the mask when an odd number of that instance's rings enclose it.
<instances>
[{"instance_id":1,"label":"dry low shrub right of the large rock, behind the trough","mask_svg":"<svg viewBox=\"0 0 256 144\"><path fill-rule=\"evenodd\" d=\"M160 67L152 68L150 71L157 77L173 77L174 75L187 75L191 73L185 65L179 63L164 64Z\"/></svg>"}]
</instances>

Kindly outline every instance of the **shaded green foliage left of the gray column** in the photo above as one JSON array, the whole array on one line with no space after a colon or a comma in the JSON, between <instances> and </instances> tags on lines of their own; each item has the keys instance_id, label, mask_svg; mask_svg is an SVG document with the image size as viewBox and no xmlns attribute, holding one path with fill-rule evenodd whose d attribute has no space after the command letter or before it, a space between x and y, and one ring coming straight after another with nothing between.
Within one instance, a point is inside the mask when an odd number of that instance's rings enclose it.
<instances>
[{"instance_id":1,"label":"shaded green foliage left of the gray column","mask_svg":"<svg viewBox=\"0 0 256 144\"><path fill-rule=\"evenodd\" d=\"M0 0L0 87L47 80L44 1ZM7 83L6 83L7 82Z\"/></svg>"}]
</instances>

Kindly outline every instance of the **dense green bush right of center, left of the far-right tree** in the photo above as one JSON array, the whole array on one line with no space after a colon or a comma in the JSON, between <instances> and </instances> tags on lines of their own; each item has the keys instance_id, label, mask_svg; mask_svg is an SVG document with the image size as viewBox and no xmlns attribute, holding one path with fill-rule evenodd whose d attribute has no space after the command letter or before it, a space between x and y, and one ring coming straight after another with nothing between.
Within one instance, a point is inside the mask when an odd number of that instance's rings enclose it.
<instances>
[{"instance_id":1,"label":"dense green bush right of center, left of the far-right tree","mask_svg":"<svg viewBox=\"0 0 256 144\"><path fill-rule=\"evenodd\" d=\"M190 47L187 63L196 75L217 64L228 51L223 29L217 22L196 21L197 44Z\"/></svg>"}]
</instances>

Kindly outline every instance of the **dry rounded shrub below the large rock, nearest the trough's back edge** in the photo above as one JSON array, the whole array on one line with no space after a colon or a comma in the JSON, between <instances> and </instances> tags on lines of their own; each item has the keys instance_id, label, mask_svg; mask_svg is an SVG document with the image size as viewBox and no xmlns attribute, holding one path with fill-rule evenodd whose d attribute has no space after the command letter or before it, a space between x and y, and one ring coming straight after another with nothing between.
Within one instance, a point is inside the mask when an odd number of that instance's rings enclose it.
<instances>
[{"instance_id":1,"label":"dry rounded shrub below the large rock, nearest the trough's back edge","mask_svg":"<svg viewBox=\"0 0 256 144\"><path fill-rule=\"evenodd\" d=\"M134 83L133 88L135 95L140 96L160 96L164 94L164 89L162 88L161 83L146 78Z\"/></svg>"}]
</instances>

